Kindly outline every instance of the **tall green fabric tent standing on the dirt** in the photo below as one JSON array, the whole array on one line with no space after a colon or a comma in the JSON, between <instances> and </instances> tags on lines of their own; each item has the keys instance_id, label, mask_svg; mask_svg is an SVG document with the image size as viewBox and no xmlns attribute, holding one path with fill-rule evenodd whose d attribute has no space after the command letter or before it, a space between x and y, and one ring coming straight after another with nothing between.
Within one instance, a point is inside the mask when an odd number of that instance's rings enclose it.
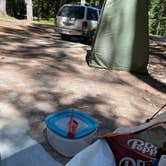
<instances>
[{"instance_id":1,"label":"tall green fabric tent standing on the dirt","mask_svg":"<svg viewBox=\"0 0 166 166\"><path fill-rule=\"evenodd\" d=\"M106 0L92 50L91 67L146 73L148 63L147 0Z\"/></svg>"}]
</instances>

